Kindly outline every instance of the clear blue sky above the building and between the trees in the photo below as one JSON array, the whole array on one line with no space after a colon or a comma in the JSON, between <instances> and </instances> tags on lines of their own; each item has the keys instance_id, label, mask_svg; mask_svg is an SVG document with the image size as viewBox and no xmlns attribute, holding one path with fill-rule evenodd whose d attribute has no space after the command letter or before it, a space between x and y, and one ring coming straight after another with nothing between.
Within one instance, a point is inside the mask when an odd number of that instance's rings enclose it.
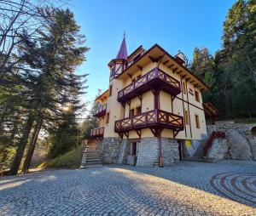
<instances>
[{"instance_id":1,"label":"clear blue sky above the building and between the trees","mask_svg":"<svg viewBox=\"0 0 256 216\"><path fill-rule=\"evenodd\" d=\"M89 73L84 100L108 88L108 62L119 51L126 32L128 54L143 45L160 44L170 54L180 49L192 59L195 47L221 48L223 22L235 0L73 0L69 8L90 48L79 73Z\"/></svg>"}]
</instances>

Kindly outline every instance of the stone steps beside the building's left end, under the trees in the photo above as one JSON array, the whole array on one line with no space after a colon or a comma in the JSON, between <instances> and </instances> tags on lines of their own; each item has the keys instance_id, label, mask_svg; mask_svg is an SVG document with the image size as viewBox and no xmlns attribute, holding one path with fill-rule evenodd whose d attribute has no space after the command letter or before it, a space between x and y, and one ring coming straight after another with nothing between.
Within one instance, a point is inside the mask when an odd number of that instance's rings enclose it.
<instances>
[{"instance_id":1,"label":"stone steps beside the building's left end, under the trees","mask_svg":"<svg viewBox=\"0 0 256 216\"><path fill-rule=\"evenodd\" d=\"M102 167L100 154L96 150L87 150L83 152L82 164L80 168Z\"/></svg>"}]
</instances>

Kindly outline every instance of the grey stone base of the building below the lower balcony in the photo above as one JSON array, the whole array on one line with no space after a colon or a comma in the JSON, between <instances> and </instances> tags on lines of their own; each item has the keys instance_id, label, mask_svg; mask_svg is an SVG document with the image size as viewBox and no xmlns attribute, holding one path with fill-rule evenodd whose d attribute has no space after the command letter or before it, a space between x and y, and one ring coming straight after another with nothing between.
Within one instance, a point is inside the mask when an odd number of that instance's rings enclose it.
<instances>
[{"instance_id":1,"label":"grey stone base of the building below the lower balcony","mask_svg":"<svg viewBox=\"0 0 256 216\"><path fill-rule=\"evenodd\" d=\"M161 146L164 166L171 166L179 160L176 139L161 138ZM157 138L143 138L137 148L137 166L154 167L159 165L159 140ZM104 138L98 143L97 151L102 155L104 164L131 163L131 160L127 161L127 157L130 155L129 139Z\"/></svg>"}]
</instances>

